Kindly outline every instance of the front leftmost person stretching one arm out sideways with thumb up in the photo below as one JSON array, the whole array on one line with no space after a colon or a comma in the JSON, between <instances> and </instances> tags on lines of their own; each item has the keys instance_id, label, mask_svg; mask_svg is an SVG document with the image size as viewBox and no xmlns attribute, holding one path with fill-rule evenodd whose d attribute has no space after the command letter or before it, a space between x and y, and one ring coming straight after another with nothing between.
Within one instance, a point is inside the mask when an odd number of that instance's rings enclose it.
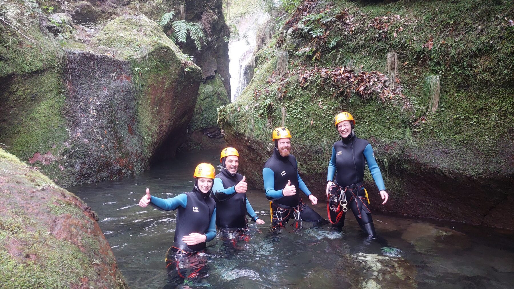
<instances>
[{"instance_id":1,"label":"front leftmost person stretching one arm out sideways with thumb up","mask_svg":"<svg viewBox=\"0 0 514 289\"><path fill-rule=\"evenodd\" d=\"M160 210L178 209L173 246L166 253L170 281L177 282L177 276L171 276L174 269L178 272L178 282L207 275L207 260L197 253L216 236L216 203L211 198L215 174L211 164L201 163L195 168L195 184L191 192L161 199L151 196L147 188L146 195L139 201L143 208L151 204ZM173 264L175 266L171 266Z\"/></svg>"}]
</instances>

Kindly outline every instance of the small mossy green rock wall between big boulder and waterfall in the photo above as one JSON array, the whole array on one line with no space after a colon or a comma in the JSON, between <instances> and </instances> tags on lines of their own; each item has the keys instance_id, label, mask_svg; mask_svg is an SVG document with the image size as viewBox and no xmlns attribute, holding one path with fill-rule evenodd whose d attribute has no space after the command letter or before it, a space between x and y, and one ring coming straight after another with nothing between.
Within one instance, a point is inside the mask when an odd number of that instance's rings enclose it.
<instances>
[{"instance_id":1,"label":"small mossy green rock wall between big boulder and waterfall","mask_svg":"<svg viewBox=\"0 0 514 289\"><path fill-rule=\"evenodd\" d=\"M217 108L228 103L228 94L219 74L216 73L214 78L200 83L193 118L189 123L189 131L217 127Z\"/></svg>"}]
</instances>

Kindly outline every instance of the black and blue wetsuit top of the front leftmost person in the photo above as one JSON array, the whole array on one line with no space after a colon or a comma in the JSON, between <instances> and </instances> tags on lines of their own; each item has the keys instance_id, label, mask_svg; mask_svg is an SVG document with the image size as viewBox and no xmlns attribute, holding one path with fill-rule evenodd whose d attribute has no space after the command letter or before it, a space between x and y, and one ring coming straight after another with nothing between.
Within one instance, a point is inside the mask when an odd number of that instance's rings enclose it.
<instances>
[{"instance_id":1,"label":"black and blue wetsuit top of the front leftmost person","mask_svg":"<svg viewBox=\"0 0 514 289\"><path fill-rule=\"evenodd\" d=\"M185 192L169 199L152 196L150 203L162 210L178 208L174 248L190 253L198 252L205 248L205 242L186 245L182 238L191 233L198 233L204 234L207 237L206 242L209 242L216 236L216 203L210 194L203 194L194 188L192 192Z\"/></svg>"}]
</instances>

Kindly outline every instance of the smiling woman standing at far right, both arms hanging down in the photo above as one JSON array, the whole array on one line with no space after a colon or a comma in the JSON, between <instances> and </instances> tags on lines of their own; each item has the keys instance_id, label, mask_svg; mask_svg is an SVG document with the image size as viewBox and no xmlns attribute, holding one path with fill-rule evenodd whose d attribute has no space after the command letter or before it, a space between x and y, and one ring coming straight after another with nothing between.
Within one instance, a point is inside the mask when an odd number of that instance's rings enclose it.
<instances>
[{"instance_id":1,"label":"smiling woman standing at far right, both arms hanging down","mask_svg":"<svg viewBox=\"0 0 514 289\"><path fill-rule=\"evenodd\" d=\"M335 117L335 124L341 140L332 148L332 158L328 163L326 183L328 220L336 227L344 225L347 207L352 209L362 231L376 237L373 218L369 208L368 191L364 188L364 165L368 162L383 204L389 198L382 179L380 168L375 161L371 144L355 136L355 120L352 114L341 112ZM335 175L335 180L334 180Z\"/></svg>"}]
</instances>

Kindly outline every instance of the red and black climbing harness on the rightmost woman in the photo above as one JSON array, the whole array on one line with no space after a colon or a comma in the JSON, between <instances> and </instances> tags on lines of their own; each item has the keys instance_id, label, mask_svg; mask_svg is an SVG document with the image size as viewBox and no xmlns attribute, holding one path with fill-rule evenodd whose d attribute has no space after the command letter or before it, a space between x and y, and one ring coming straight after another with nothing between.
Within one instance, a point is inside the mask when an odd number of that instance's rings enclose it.
<instances>
[{"instance_id":1,"label":"red and black climbing harness on the rightmost woman","mask_svg":"<svg viewBox=\"0 0 514 289\"><path fill-rule=\"evenodd\" d=\"M337 189L333 192L333 189L335 187L337 187ZM368 213L368 214L371 213L370 209L368 208L368 206L366 206L366 204L363 201L363 200L366 200L366 201L368 201L368 204L370 204L370 200L368 198L368 191L364 188L365 196L362 197L362 196L358 195L359 191L363 187L364 187L363 182L353 184L350 186L346 186L346 187L341 187L336 182L333 182L331 187L329 188L328 201L326 203L328 221L330 221L332 224L339 223L339 221L343 217L344 213L346 213L346 211L348 210L348 207L347 207L348 204L350 204L350 202L352 202L353 199L355 199L356 202L357 202L357 200L360 200L362 202L362 205L365 207L365 209L368 210L368 212L366 212L366 213ZM351 194L350 200L347 200L346 194ZM360 208L359 208L358 204L357 204L357 210L359 213L359 218L362 218L360 215L361 213L360 213ZM331 211L333 211L334 214L336 215L335 221L332 220Z\"/></svg>"}]
</instances>

